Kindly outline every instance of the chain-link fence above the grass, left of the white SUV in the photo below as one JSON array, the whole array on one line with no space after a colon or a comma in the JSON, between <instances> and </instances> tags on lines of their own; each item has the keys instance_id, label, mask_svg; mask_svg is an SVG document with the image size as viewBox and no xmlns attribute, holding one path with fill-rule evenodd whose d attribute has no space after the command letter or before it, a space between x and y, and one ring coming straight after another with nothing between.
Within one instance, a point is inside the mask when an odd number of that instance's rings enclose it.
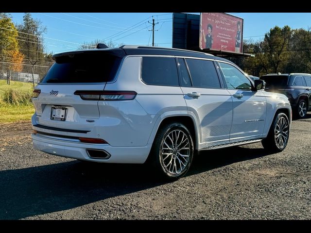
<instances>
[{"instance_id":1,"label":"chain-link fence above the grass, left of the white SUV","mask_svg":"<svg viewBox=\"0 0 311 233\"><path fill-rule=\"evenodd\" d=\"M0 62L0 90L12 88L20 91L29 91L43 79L51 66L52 63L50 66L32 66Z\"/></svg>"}]
</instances>

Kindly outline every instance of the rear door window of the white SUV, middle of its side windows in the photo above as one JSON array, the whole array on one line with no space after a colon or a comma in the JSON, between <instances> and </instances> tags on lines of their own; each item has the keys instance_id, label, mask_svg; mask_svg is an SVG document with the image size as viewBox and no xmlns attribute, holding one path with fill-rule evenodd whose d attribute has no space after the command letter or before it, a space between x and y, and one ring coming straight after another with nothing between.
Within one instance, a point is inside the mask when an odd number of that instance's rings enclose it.
<instances>
[{"instance_id":1,"label":"rear door window of the white SUV, middle of its side windows","mask_svg":"<svg viewBox=\"0 0 311 233\"><path fill-rule=\"evenodd\" d=\"M220 88L218 74L214 63L207 60L186 59L192 84L202 88Z\"/></svg>"}]
</instances>

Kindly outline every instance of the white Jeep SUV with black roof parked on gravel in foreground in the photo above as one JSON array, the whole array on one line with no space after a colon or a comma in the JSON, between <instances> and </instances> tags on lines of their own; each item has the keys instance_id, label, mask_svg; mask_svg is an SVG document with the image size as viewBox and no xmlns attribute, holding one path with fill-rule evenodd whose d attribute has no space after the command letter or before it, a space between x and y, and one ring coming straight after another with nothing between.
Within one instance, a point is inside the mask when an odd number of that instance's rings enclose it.
<instances>
[{"instance_id":1,"label":"white Jeep SUV with black roof parked on gravel in foreground","mask_svg":"<svg viewBox=\"0 0 311 233\"><path fill-rule=\"evenodd\" d=\"M35 149L100 163L150 163L177 179L196 150L262 141L287 145L286 96L264 91L236 65L213 55L122 46L53 56L34 90Z\"/></svg>"}]
</instances>

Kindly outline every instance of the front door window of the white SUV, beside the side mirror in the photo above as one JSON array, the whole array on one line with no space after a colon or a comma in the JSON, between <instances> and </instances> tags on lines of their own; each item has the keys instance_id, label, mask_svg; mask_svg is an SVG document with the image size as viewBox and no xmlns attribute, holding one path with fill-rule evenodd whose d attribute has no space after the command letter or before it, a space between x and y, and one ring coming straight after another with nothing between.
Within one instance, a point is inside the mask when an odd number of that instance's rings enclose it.
<instances>
[{"instance_id":1,"label":"front door window of the white SUV, beside the side mirror","mask_svg":"<svg viewBox=\"0 0 311 233\"><path fill-rule=\"evenodd\" d=\"M225 82L227 83L228 89L251 90L251 82L240 70L223 62L219 62L219 65L225 76Z\"/></svg>"}]
</instances>

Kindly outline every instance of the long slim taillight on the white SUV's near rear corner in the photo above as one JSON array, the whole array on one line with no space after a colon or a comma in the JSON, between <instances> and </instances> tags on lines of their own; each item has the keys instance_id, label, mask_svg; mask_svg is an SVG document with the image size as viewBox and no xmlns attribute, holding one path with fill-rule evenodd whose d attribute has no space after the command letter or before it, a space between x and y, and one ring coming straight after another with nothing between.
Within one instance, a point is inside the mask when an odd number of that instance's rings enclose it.
<instances>
[{"instance_id":1,"label":"long slim taillight on the white SUV's near rear corner","mask_svg":"<svg viewBox=\"0 0 311 233\"><path fill-rule=\"evenodd\" d=\"M82 100L134 100L135 91L75 91Z\"/></svg>"}]
</instances>

